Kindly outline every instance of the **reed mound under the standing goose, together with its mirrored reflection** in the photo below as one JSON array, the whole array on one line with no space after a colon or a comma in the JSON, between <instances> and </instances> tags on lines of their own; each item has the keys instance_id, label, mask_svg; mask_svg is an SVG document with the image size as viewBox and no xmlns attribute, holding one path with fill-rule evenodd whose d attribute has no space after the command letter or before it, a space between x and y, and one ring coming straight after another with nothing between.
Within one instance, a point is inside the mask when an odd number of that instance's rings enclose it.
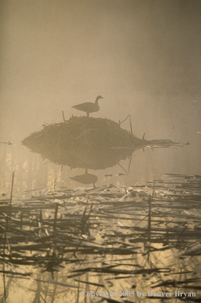
<instances>
[{"instance_id":1,"label":"reed mound under the standing goose, together with its mirrored reflection","mask_svg":"<svg viewBox=\"0 0 201 303\"><path fill-rule=\"evenodd\" d=\"M94 170L112 167L145 145L112 120L87 117L43 125L22 144L56 164Z\"/></svg>"}]
</instances>

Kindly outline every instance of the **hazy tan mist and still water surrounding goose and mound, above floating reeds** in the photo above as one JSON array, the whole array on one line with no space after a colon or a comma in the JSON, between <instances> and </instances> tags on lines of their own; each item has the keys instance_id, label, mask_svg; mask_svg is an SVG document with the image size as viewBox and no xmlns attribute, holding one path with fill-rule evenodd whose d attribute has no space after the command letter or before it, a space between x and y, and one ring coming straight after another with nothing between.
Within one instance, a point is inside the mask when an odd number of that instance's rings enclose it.
<instances>
[{"instance_id":1,"label":"hazy tan mist and still water surrounding goose and mound, above floating reeds","mask_svg":"<svg viewBox=\"0 0 201 303\"><path fill-rule=\"evenodd\" d=\"M145 132L148 140L190 142L181 149L139 150L129 176L104 177L123 173L119 167L95 172L97 185L201 174L199 0L1 1L0 9L0 142L17 144L0 146L5 188L13 171L20 189L39 180L47 185L60 174L19 143L44 122L62 122L61 108L66 120L85 115L71 107L97 95L104 99L91 117L118 122L130 114L140 138ZM129 130L128 121L121 126ZM128 161L121 165L126 169ZM78 171L64 168L59 180L79 186L69 179Z\"/></svg>"}]
</instances>

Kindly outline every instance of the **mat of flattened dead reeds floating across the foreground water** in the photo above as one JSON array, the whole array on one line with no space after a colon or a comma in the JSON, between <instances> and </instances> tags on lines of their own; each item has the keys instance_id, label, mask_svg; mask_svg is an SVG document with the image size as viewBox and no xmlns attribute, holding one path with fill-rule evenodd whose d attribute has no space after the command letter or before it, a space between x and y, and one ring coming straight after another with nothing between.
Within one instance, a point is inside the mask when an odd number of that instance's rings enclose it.
<instances>
[{"instance_id":1,"label":"mat of flattened dead reeds floating across the foreground water","mask_svg":"<svg viewBox=\"0 0 201 303\"><path fill-rule=\"evenodd\" d=\"M157 293L196 290L200 300L200 202L201 176L173 174L148 185L55 187L12 197L12 204L2 199L1 272L5 280L23 277L66 289L82 283L113 291L118 279L140 289L143 282ZM172 263L163 263L164 256ZM28 271L20 271L23 265ZM34 278L35 268L52 280Z\"/></svg>"}]
</instances>

